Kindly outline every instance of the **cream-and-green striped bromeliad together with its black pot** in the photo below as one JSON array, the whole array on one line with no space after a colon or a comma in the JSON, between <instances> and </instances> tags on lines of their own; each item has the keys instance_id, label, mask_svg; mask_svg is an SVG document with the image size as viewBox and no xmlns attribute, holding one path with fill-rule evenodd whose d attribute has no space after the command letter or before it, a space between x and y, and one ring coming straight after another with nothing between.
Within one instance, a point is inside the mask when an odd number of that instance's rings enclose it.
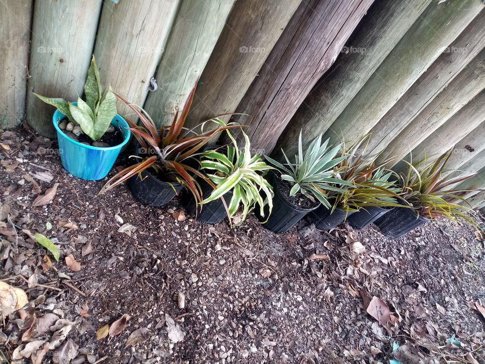
<instances>
[{"instance_id":1,"label":"cream-and-green striped bromeliad together with its black pot","mask_svg":"<svg viewBox=\"0 0 485 364\"><path fill-rule=\"evenodd\" d=\"M226 132L232 145L208 147L201 154L200 171L206 176L199 178L203 200L198 206L190 198L186 208L198 213L197 219L202 222L217 223L227 215L231 223L238 225L257 206L260 215L271 214L273 189L262 174L272 167L259 155L251 155L248 135L243 132L246 144L240 150L230 131Z\"/></svg>"}]
</instances>

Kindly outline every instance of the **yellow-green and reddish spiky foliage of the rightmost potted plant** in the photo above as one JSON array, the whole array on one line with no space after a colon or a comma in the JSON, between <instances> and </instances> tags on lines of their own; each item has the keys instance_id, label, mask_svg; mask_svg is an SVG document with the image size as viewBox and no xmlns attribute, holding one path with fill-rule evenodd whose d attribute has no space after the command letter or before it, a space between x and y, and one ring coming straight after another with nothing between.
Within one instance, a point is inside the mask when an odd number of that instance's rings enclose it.
<instances>
[{"instance_id":1,"label":"yellow-green and reddish spiky foliage of the rightmost potted plant","mask_svg":"<svg viewBox=\"0 0 485 364\"><path fill-rule=\"evenodd\" d=\"M453 177L455 171L445 171L445 165L453 150L440 155L436 160L429 162L426 157L413 164L411 161L404 161L408 165L405 173L400 173L403 186L402 197L412 205L419 215L427 218L443 216L451 220L461 217L476 225L476 221L467 215L471 210L469 206L461 206L454 201L466 202L460 193L471 190L455 190L452 188L476 173Z\"/></svg>"}]
</instances>

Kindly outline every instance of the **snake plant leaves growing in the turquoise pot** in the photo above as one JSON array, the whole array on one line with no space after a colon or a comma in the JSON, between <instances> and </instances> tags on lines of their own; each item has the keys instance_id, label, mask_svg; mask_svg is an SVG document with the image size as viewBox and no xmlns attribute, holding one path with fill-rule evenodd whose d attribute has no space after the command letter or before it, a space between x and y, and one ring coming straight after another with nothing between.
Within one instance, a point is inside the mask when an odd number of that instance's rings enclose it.
<instances>
[{"instance_id":1,"label":"snake plant leaves growing in the turquoise pot","mask_svg":"<svg viewBox=\"0 0 485 364\"><path fill-rule=\"evenodd\" d=\"M78 97L76 106L64 99L48 98L34 93L43 102L57 107L70 121L79 124L89 138L98 141L116 116L116 97L111 86L106 87L104 91L101 88L100 72L94 56L87 71L84 94L86 101Z\"/></svg>"}]
</instances>

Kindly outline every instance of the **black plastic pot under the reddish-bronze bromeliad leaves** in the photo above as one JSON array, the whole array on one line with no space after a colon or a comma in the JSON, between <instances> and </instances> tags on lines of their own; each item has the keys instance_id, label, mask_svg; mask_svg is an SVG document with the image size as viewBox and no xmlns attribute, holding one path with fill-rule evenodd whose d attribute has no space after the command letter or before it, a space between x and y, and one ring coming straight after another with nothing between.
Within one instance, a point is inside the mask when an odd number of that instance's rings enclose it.
<instances>
[{"instance_id":1,"label":"black plastic pot under the reddish-bronze bromeliad leaves","mask_svg":"<svg viewBox=\"0 0 485 364\"><path fill-rule=\"evenodd\" d=\"M138 201L149 206L162 206L169 203L175 195L182 190L182 185L173 182L164 182L148 170L141 172L128 179L128 188Z\"/></svg>"}]
</instances>

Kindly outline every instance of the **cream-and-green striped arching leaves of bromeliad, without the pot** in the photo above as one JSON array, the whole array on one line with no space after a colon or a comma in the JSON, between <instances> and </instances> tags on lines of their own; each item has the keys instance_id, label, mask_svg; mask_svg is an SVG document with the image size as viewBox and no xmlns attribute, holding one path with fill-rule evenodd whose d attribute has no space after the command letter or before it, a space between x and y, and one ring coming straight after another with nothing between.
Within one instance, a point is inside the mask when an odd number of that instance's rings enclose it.
<instances>
[{"instance_id":1,"label":"cream-and-green striped arching leaves of bromeliad, without the pot","mask_svg":"<svg viewBox=\"0 0 485 364\"><path fill-rule=\"evenodd\" d=\"M229 130L226 130L233 145L227 146L227 153L210 150L201 154L201 171L210 178L214 191L201 204L222 198L232 191L227 215L234 224L242 223L248 213L259 206L259 213L265 216L264 207L268 205L268 216L273 209L273 189L261 173L273 169L256 154L251 156L251 144L243 131L246 145L239 150ZM225 205L224 199L222 201Z\"/></svg>"}]
</instances>

